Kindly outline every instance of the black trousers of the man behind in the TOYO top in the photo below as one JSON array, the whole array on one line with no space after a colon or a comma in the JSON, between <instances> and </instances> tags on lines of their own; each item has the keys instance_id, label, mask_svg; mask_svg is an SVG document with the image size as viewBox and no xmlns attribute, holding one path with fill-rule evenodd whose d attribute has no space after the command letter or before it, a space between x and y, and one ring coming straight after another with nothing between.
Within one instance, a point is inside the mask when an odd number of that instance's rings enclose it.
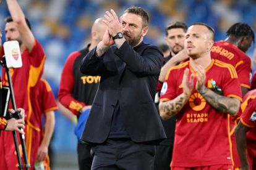
<instances>
[{"instance_id":1,"label":"black trousers of the man behind in the TOYO top","mask_svg":"<svg viewBox=\"0 0 256 170\"><path fill-rule=\"evenodd\" d=\"M77 153L80 170L90 170L92 168L93 157L91 155L91 146L88 144L77 144Z\"/></svg>"}]
</instances>

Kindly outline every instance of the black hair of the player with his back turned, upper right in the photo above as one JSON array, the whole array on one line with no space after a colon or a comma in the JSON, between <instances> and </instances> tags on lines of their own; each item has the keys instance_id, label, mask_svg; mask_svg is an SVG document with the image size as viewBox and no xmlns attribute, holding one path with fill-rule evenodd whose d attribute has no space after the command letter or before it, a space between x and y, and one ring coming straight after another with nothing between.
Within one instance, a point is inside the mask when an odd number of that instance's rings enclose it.
<instances>
[{"instance_id":1,"label":"black hair of the player with his back turned, upper right","mask_svg":"<svg viewBox=\"0 0 256 170\"><path fill-rule=\"evenodd\" d=\"M250 36L254 41L254 31L247 23L237 22L230 26L226 31L226 36L234 36L240 38L241 36Z\"/></svg>"}]
</instances>

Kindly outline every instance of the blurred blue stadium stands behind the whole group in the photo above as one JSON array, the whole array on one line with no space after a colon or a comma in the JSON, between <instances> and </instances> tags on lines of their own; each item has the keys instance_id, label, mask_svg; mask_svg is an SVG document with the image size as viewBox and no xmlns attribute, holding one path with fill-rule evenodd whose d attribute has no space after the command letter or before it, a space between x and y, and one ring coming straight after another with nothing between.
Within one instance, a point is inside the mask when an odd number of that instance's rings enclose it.
<instances>
[{"instance_id":1,"label":"blurred blue stadium stands behind the whole group","mask_svg":"<svg viewBox=\"0 0 256 170\"><path fill-rule=\"evenodd\" d=\"M81 49L90 41L90 26L106 10L114 9L120 16L130 6L142 6L150 14L146 42L164 42L164 26L173 20L190 25L205 22L216 31L215 40L224 39L225 31L235 22L246 22L256 28L256 1L250 0L20 0L32 23L32 31L46 52L44 78L57 97L62 67L70 52ZM9 15L6 2L0 4L0 26ZM5 34L3 33L3 41ZM247 54L252 57L254 46ZM74 124L56 112L56 128L52 147L55 153L75 153L77 139Z\"/></svg>"}]
</instances>

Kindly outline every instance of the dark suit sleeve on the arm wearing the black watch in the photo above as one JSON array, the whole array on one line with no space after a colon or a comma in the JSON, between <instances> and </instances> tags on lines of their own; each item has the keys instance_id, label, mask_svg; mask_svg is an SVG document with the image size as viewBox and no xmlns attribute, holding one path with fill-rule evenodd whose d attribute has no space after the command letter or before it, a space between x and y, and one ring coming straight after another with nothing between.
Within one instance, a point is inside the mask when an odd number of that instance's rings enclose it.
<instances>
[{"instance_id":1,"label":"dark suit sleeve on the arm wearing the black watch","mask_svg":"<svg viewBox=\"0 0 256 170\"><path fill-rule=\"evenodd\" d=\"M136 75L159 75L163 64L163 53L156 46L148 47L142 55L135 52L127 41L116 50L115 54L127 68Z\"/></svg>"}]
</instances>

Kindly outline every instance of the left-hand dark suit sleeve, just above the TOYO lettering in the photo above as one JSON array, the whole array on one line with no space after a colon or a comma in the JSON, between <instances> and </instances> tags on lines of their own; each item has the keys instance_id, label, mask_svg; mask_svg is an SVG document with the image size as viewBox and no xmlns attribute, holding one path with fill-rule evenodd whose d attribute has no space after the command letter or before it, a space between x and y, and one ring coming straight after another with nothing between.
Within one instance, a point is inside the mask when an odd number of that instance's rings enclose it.
<instances>
[{"instance_id":1,"label":"left-hand dark suit sleeve, just above the TOYO lettering","mask_svg":"<svg viewBox=\"0 0 256 170\"><path fill-rule=\"evenodd\" d=\"M92 51L88 52L88 54L83 57L82 62L80 63L80 71L84 75L91 75L91 76L101 76L103 71L103 58L104 55L96 57L96 47L92 49Z\"/></svg>"}]
</instances>

